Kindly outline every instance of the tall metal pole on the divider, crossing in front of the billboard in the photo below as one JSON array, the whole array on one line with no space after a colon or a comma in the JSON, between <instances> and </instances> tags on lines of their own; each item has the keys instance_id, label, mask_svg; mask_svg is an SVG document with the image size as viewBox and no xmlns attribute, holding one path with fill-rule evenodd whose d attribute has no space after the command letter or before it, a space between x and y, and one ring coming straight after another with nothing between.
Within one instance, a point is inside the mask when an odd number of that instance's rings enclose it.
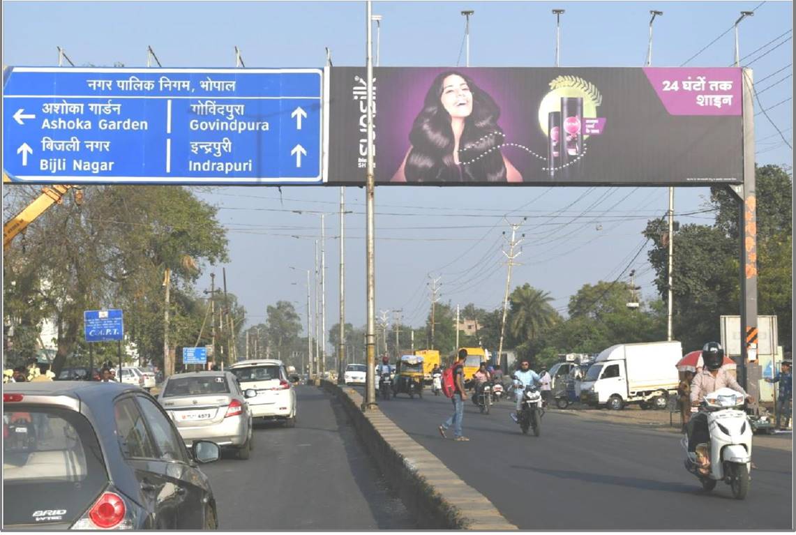
<instances>
[{"instance_id":1,"label":"tall metal pole on the divider, crossing in front of the billboard","mask_svg":"<svg viewBox=\"0 0 796 535\"><path fill-rule=\"evenodd\" d=\"M367 67L367 120L368 120L368 163L365 174L365 283L367 295L367 326L365 328L365 348L368 355L368 369L365 377L365 406L367 410L377 406L376 387L373 381L376 373L376 254L375 254L375 218L373 217L373 202L376 194L376 184L373 176L373 25L370 23L373 15L373 6L370 0L365 2L365 21L367 37L365 39L365 65Z\"/></svg>"}]
</instances>

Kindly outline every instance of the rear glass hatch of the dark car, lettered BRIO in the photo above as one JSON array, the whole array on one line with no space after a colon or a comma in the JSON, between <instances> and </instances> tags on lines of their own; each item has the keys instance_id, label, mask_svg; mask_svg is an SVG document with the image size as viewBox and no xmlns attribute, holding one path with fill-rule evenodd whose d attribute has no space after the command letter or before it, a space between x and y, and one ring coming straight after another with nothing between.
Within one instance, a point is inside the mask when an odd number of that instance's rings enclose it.
<instances>
[{"instance_id":1,"label":"rear glass hatch of the dark car, lettered BRIO","mask_svg":"<svg viewBox=\"0 0 796 535\"><path fill-rule=\"evenodd\" d=\"M100 445L80 413L3 404L4 524L74 521L107 484ZM60 514L33 517L36 511Z\"/></svg>"}]
</instances>

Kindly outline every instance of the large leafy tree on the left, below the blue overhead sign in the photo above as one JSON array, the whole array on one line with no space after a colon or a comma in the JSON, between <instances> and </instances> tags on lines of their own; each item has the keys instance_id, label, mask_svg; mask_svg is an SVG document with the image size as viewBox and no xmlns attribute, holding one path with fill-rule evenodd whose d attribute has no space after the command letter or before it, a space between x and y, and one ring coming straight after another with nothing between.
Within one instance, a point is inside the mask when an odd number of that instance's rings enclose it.
<instances>
[{"instance_id":1,"label":"large leafy tree on the left, below the blue overhead sign","mask_svg":"<svg viewBox=\"0 0 796 535\"><path fill-rule=\"evenodd\" d=\"M203 266L227 260L216 209L177 186L83 190L82 203L67 199L44 213L27 228L24 247L4 252L6 316L30 326L53 319L57 373L82 338L83 311L122 308L131 342L159 362L164 271L172 274L170 308L179 323L191 300L181 295L191 295ZM10 208L27 204L18 202Z\"/></svg>"}]
</instances>

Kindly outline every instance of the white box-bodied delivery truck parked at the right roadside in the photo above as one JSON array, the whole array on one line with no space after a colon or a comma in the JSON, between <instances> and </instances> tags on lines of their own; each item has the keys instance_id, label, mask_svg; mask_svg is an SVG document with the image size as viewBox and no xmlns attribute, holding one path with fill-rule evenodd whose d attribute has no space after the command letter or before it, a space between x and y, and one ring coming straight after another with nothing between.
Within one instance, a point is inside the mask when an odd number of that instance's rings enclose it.
<instances>
[{"instance_id":1,"label":"white box-bodied delivery truck parked at the right roadside","mask_svg":"<svg viewBox=\"0 0 796 535\"><path fill-rule=\"evenodd\" d=\"M642 408L664 409L677 395L680 342L618 344L599 353L580 383L580 400L614 410L638 403Z\"/></svg>"}]
</instances>

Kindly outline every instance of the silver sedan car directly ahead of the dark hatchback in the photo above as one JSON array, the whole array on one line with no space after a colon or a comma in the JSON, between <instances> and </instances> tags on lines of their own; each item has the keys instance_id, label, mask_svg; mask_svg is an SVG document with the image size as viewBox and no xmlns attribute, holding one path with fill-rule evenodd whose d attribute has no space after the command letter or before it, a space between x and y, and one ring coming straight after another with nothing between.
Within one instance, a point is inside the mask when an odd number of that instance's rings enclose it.
<instances>
[{"instance_id":1,"label":"silver sedan car directly ahead of the dark hatchback","mask_svg":"<svg viewBox=\"0 0 796 535\"><path fill-rule=\"evenodd\" d=\"M166 379L158 401L174 421L186 446L212 440L236 449L248 459L252 449L252 410L246 400L256 391L242 392L229 372L181 373Z\"/></svg>"}]
</instances>

